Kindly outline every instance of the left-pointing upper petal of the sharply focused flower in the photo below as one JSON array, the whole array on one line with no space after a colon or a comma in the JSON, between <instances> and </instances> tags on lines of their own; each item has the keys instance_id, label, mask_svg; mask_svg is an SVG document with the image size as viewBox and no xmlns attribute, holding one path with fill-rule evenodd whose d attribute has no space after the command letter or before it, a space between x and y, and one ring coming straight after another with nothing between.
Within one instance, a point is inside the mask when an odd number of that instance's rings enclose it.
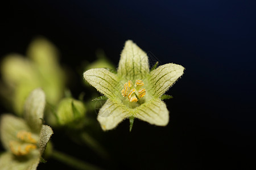
<instances>
[{"instance_id":1,"label":"left-pointing upper petal of the sharply focused flower","mask_svg":"<svg viewBox=\"0 0 256 170\"><path fill-rule=\"evenodd\" d=\"M95 87L108 98L116 98L116 95L121 94L121 84L117 79L117 75L106 69L90 69L85 71L84 79Z\"/></svg>"}]
</instances>

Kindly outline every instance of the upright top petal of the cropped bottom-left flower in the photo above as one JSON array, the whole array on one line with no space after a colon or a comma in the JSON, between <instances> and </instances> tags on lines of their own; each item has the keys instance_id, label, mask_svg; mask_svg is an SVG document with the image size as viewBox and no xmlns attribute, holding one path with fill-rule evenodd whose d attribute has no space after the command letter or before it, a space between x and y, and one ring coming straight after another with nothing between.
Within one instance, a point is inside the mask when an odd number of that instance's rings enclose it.
<instances>
[{"instance_id":1,"label":"upright top petal of the cropped bottom-left flower","mask_svg":"<svg viewBox=\"0 0 256 170\"><path fill-rule=\"evenodd\" d=\"M40 88L36 88L34 91L32 91L25 103L24 118L32 130L38 133L42 127L41 119L44 116L45 105L46 95Z\"/></svg>"}]
</instances>

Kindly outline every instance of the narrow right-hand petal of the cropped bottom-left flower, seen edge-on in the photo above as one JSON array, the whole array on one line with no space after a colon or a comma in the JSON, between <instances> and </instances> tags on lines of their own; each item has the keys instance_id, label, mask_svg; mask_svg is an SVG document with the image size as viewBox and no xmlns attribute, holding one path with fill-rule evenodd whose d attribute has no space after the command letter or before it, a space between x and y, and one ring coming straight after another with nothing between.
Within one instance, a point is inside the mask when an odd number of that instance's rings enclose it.
<instances>
[{"instance_id":1,"label":"narrow right-hand petal of the cropped bottom-left flower, seen edge-on","mask_svg":"<svg viewBox=\"0 0 256 170\"><path fill-rule=\"evenodd\" d=\"M51 138L51 135L53 134L52 128L47 125L43 125L41 132L40 132L40 140L39 140L39 150L40 154L42 155L44 152L44 149L46 148L46 144Z\"/></svg>"}]
</instances>

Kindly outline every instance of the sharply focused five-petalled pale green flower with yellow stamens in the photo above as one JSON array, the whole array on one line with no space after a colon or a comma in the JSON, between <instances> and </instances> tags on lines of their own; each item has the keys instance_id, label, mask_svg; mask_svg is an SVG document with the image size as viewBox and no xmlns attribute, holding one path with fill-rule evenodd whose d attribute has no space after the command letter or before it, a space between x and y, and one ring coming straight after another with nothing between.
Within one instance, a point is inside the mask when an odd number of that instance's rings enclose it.
<instances>
[{"instance_id":1,"label":"sharply focused five-petalled pale green flower with yellow stamens","mask_svg":"<svg viewBox=\"0 0 256 170\"><path fill-rule=\"evenodd\" d=\"M150 71L147 54L133 41L126 41L117 74L102 68L84 73L84 79L108 97L98 113L101 128L113 129L127 117L166 126L169 112L160 97L183 71L183 66L174 63Z\"/></svg>"}]
</instances>

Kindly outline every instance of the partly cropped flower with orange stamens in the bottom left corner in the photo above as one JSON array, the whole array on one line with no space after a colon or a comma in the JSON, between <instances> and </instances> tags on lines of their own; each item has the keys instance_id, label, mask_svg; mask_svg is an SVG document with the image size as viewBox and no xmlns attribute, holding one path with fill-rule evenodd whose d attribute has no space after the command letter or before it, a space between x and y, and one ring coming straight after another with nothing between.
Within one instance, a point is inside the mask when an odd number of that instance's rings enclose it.
<instances>
[{"instance_id":1,"label":"partly cropped flower with orange stamens in the bottom left corner","mask_svg":"<svg viewBox=\"0 0 256 170\"><path fill-rule=\"evenodd\" d=\"M46 148L52 129L42 124L46 96L38 88L31 92L24 105L24 118L3 114L0 137L6 152L0 155L2 170L34 170Z\"/></svg>"}]
</instances>

